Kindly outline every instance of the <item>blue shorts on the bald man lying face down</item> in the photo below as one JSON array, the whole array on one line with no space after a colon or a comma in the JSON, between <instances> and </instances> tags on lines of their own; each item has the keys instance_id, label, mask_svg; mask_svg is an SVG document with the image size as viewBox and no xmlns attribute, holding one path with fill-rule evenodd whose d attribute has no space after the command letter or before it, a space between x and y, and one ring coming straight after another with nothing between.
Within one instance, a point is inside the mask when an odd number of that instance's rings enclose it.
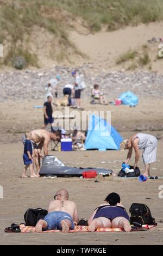
<instances>
[{"instance_id":1,"label":"blue shorts on the bald man lying face down","mask_svg":"<svg viewBox=\"0 0 163 256\"><path fill-rule=\"evenodd\" d=\"M43 228L42 230L52 230L52 229L61 229L60 222L62 220L68 220L71 222L71 228L74 229L74 223L70 214L64 211L52 211L45 216L43 219L47 222L47 227Z\"/></svg>"}]
</instances>

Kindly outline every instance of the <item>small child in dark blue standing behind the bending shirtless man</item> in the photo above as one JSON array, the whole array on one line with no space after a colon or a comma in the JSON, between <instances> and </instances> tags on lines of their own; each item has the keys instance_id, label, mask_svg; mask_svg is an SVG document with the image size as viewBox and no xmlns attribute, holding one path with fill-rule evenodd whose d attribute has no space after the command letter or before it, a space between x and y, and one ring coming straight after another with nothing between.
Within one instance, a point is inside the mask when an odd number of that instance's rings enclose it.
<instances>
[{"instance_id":1,"label":"small child in dark blue standing behind the bending shirtless man","mask_svg":"<svg viewBox=\"0 0 163 256\"><path fill-rule=\"evenodd\" d=\"M30 169L30 178L37 178L38 176L34 172L34 166L33 166L33 148L32 148L32 142L30 141L31 132L26 132L26 142L24 144L24 154L23 154L23 161L24 161L24 170L22 173L22 178L28 178L26 175L27 169L29 167Z\"/></svg>"}]
</instances>

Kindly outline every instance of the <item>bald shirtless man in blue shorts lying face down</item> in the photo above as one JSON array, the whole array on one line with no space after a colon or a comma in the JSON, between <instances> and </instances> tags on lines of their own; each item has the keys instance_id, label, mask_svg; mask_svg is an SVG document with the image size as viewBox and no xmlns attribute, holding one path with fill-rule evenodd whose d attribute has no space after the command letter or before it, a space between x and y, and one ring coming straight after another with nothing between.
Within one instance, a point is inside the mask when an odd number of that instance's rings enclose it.
<instances>
[{"instance_id":1,"label":"bald shirtless man in blue shorts lying face down","mask_svg":"<svg viewBox=\"0 0 163 256\"><path fill-rule=\"evenodd\" d=\"M49 203L48 214L43 220L37 222L35 231L60 229L66 233L74 229L74 223L78 221L76 204L68 200L67 190L61 189L55 194L54 200Z\"/></svg>"}]
</instances>

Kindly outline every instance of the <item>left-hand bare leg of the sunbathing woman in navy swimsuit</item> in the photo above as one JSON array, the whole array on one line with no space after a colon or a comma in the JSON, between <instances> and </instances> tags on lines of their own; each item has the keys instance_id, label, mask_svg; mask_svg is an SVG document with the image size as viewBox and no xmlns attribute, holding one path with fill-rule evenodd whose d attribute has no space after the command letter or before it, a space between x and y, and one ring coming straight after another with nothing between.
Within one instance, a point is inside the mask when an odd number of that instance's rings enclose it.
<instances>
[{"instance_id":1,"label":"left-hand bare leg of the sunbathing woman in navy swimsuit","mask_svg":"<svg viewBox=\"0 0 163 256\"><path fill-rule=\"evenodd\" d=\"M111 227L111 222L108 218L105 217L99 217L99 218L94 218L92 222L89 224L89 231L93 232L97 228L110 228Z\"/></svg>"}]
</instances>

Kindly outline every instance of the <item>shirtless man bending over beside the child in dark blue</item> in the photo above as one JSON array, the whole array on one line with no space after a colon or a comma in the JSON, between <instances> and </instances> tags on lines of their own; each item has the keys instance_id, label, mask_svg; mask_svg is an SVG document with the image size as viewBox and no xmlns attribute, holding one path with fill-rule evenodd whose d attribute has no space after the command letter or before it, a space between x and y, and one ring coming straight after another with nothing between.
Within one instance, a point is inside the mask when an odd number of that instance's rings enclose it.
<instances>
[{"instance_id":1,"label":"shirtless man bending over beside the child in dark blue","mask_svg":"<svg viewBox=\"0 0 163 256\"><path fill-rule=\"evenodd\" d=\"M48 145L53 141L60 141L61 138L61 131L60 130L53 130L53 132L48 132L43 129L37 129L30 132L30 140L32 141L33 145L33 153L34 153L34 160L37 169L37 175L39 176L40 172L40 157L42 157L41 150L43 147L43 154L45 156L48 155ZM23 144L26 142L26 136L23 135L22 137ZM39 144L37 144L39 143Z\"/></svg>"}]
</instances>

